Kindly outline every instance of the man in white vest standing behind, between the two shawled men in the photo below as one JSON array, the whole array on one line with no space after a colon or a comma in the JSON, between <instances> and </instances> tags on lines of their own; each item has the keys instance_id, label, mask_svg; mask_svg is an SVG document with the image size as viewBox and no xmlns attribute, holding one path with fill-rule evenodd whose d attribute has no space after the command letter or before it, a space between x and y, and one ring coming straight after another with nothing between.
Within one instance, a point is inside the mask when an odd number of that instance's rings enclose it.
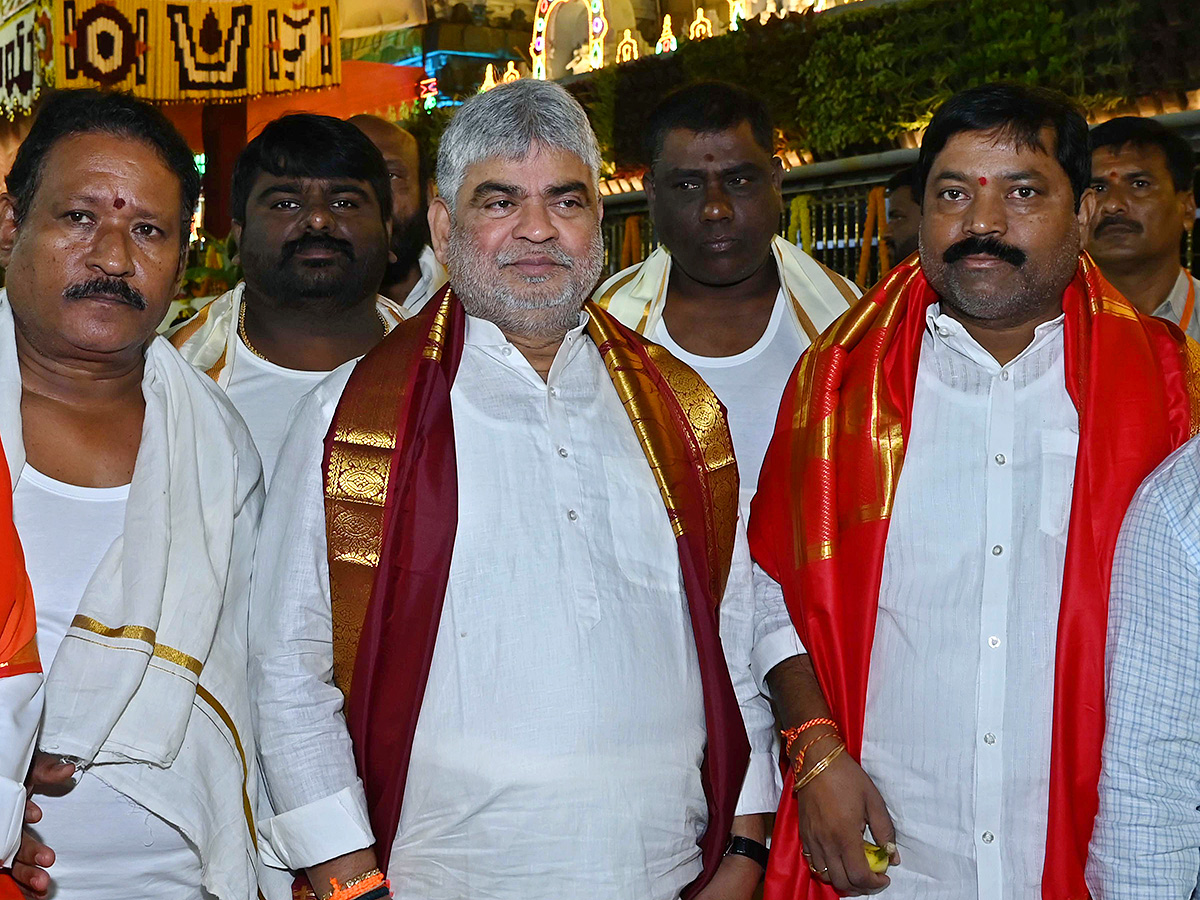
<instances>
[{"instance_id":1,"label":"man in white vest standing behind, between the two shawled men","mask_svg":"<svg viewBox=\"0 0 1200 900\"><path fill-rule=\"evenodd\" d=\"M725 404L748 518L784 383L858 292L776 234L784 168L760 98L692 84L647 121L646 194L660 246L594 299L691 366Z\"/></svg>"}]
</instances>

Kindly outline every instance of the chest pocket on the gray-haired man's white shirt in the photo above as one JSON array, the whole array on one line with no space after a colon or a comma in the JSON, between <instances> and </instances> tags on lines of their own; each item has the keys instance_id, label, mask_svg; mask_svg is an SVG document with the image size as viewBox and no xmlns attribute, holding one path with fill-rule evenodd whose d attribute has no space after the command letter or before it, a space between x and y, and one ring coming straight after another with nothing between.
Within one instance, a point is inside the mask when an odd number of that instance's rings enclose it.
<instances>
[{"instance_id":1,"label":"chest pocket on the gray-haired man's white shirt","mask_svg":"<svg viewBox=\"0 0 1200 900\"><path fill-rule=\"evenodd\" d=\"M644 457L604 457L617 568L635 584L673 590L679 583L674 534L658 482L643 469Z\"/></svg>"}]
</instances>

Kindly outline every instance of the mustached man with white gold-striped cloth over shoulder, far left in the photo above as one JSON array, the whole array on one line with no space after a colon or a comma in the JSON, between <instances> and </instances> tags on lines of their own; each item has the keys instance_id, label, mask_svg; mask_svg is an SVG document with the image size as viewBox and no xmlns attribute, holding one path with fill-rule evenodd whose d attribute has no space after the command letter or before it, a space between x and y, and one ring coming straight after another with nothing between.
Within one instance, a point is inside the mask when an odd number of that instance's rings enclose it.
<instances>
[{"instance_id":1,"label":"mustached man with white gold-striped cloth over shoulder, far left","mask_svg":"<svg viewBox=\"0 0 1200 900\"><path fill-rule=\"evenodd\" d=\"M13 877L56 900L253 898L262 468L221 391L155 337L192 154L145 103L64 91L7 191L0 440L46 671Z\"/></svg>"}]
</instances>

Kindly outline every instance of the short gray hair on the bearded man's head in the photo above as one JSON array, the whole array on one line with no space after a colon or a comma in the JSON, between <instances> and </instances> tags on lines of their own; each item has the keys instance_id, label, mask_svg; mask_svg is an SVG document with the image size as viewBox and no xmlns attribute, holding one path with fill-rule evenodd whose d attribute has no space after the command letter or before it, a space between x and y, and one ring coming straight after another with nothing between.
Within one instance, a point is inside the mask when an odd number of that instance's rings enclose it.
<instances>
[{"instance_id":1,"label":"short gray hair on the bearded man's head","mask_svg":"<svg viewBox=\"0 0 1200 900\"><path fill-rule=\"evenodd\" d=\"M600 148L583 107L553 82L522 78L468 100L442 136L438 193L451 215L468 168L493 157L523 160L534 142L580 157L599 191Z\"/></svg>"}]
</instances>

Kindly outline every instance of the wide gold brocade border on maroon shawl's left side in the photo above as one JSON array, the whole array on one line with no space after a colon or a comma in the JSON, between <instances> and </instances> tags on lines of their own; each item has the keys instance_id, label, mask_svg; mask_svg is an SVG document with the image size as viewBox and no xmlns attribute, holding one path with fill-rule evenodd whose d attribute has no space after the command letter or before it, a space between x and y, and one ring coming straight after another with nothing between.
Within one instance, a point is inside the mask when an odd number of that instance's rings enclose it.
<instances>
[{"instance_id":1,"label":"wide gold brocade border on maroon shawl's left side","mask_svg":"<svg viewBox=\"0 0 1200 900\"><path fill-rule=\"evenodd\" d=\"M334 682L349 700L359 635L383 550L391 462L401 439L400 404L424 360L439 362L451 308L401 323L359 364L334 415L325 473L325 536L334 619Z\"/></svg>"}]
</instances>

